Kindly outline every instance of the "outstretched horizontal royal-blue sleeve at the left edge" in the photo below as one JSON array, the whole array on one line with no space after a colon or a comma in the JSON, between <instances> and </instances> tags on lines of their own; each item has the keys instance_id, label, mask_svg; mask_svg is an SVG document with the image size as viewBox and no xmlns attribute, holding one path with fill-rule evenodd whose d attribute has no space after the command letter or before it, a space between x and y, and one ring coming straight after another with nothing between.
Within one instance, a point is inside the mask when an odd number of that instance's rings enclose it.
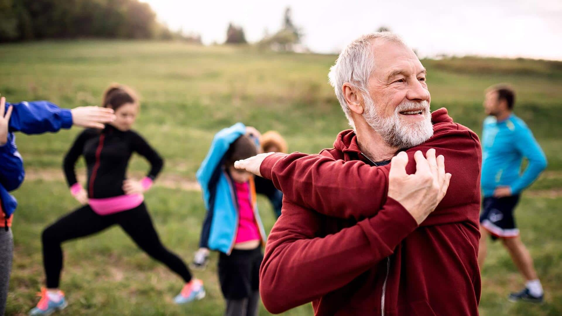
<instances>
[{"instance_id":1,"label":"outstretched horizontal royal-blue sleeve at the left edge","mask_svg":"<svg viewBox=\"0 0 562 316\"><path fill-rule=\"evenodd\" d=\"M72 113L68 109L61 109L47 101L20 102L13 106L10 118L10 132L25 134L42 134L58 132L61 128L72 127Z\"/></svg>"}]
</instances>

